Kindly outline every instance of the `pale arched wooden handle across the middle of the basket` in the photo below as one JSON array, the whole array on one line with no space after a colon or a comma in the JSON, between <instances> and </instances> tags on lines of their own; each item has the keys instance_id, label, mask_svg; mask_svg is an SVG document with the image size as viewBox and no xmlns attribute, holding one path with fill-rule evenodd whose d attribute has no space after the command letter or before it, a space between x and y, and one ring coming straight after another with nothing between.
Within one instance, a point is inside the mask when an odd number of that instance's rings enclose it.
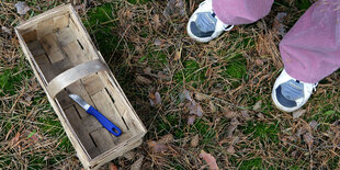
<instances>
[{"instance_id":1,"label":"pale arched wooden handle across the middle of the basket","mask_svg":"<svg viewBox=\"0 0 340 170\"><path fill-rule=\"evenodd\" d=\"M47 91L52 99L55 99L55 97L66 87L69 84L76 82L79 79L82 79L89 75L99 72L99 71L107 71L109 68L105 64L103 64L100 59L94 59L90 61L86 61L83 64L80 64L73 68L70 68L57 77L55 77L53 80L49 81L47 84Z\"/></svg>"}]
</instances>

